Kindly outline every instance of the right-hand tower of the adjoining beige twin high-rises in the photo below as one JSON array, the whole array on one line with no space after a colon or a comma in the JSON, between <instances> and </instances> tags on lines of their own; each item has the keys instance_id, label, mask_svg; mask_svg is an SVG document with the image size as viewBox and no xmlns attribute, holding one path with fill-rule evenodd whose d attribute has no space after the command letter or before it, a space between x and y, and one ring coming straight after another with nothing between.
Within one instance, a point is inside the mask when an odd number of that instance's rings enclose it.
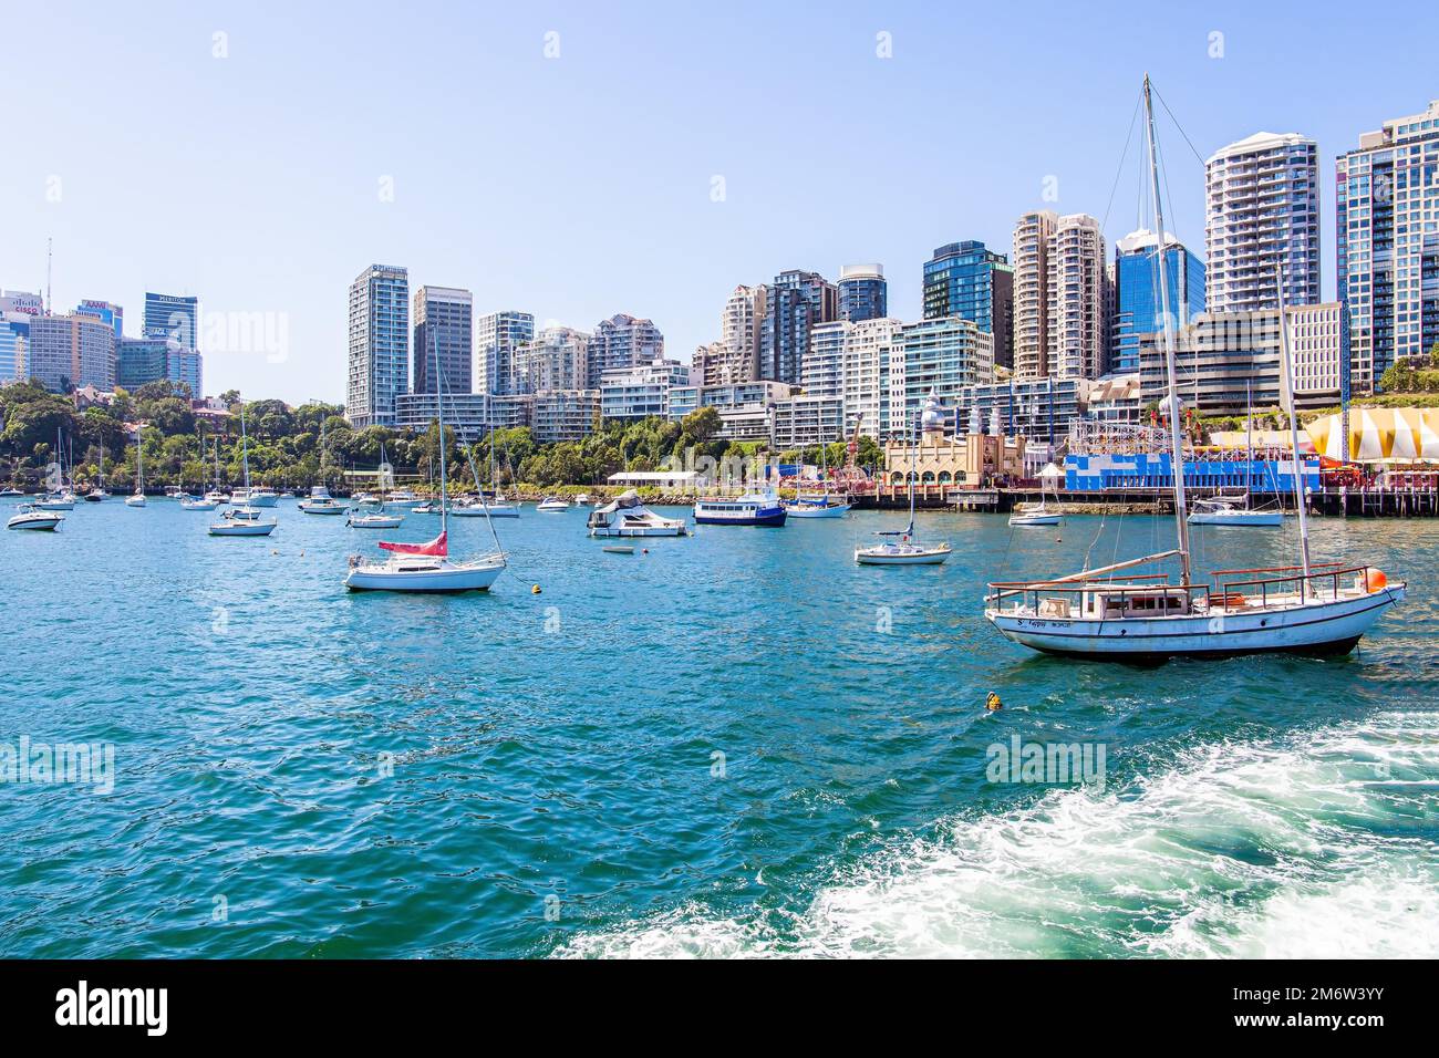
<instances>
[{"instance_id":1,"label":"right-hand tower of the adjoining beige twin high-rises","mask_svg":"<svg viewBox=\"0 0 1439 1058\"><path fill-rule=\"evenodd\" d=\"M1109 366L1109 294L1099 222L1086 213L1059 217L1045 266L1049 305L1045 370L1026 377L1098 379Z\"/></svg>"}]
</instances>

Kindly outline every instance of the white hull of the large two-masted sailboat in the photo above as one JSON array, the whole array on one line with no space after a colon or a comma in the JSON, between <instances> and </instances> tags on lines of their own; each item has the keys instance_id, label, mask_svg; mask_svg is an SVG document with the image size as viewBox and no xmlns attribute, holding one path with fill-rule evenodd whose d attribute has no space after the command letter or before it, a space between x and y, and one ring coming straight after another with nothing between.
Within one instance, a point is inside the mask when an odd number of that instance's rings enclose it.
<instances>
[{"instance_id":1,"label":"white hull of the large two-masted sailboat","mask_svg":"<svg viewBox=\"0 0 1439 1058\"><path fill-rule=\"evenodd\" d=\"M1006 638L1045 654L1147 664L1166 658L1233 658L1246 654L1347 654L1390 606L1404 599L1390 586L1338 602L1286 609L1098 620L1036 618L986 610Z\"/></svg>"}]
</instances>

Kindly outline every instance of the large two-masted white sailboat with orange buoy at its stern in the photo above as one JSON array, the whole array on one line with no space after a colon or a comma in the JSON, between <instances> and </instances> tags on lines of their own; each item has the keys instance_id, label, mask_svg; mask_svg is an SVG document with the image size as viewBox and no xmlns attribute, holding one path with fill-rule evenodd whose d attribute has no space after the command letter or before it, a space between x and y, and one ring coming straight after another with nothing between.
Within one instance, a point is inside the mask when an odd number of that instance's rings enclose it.
<instances>
[{"instance_id":1,"label":"large two-masted white sailboat with orange buoy at its stern","mask_svg":"<svg viewBox=\"0 0 1439 1058\"><path fill-rule=\"evenodd\" d=\"M1154 108L1144 78L1144 112L1153 184L1156 230L1164 232L1160 199ZM1163 243L1163 239L1161 239ZM1174 320L1168 279L1160 250L1158 286L1164 321L1168 387L1170 459L1174 476L1174 524L1179 546L1095 570L1033 582L991 583L986 619L1007 639L1046 654L1104 661L1148 662L1173 656L1223 658L1269 651L1347 654L1376 620L1406 594L1371 566L1312 566L1304 502L1298 419L1294 413L1294 364L1288 327L1279 328L1281 369L1294 452L1294 491L1299 520L1299 564L1258 570L1216 570L1212 584L1196 584L1190 570L1189 512L1184 492L1183 439L1174 369ZM1284 275L1275 262L1279 320L1284 320ZM1180 582L1164 574L1115 577L1148 563L1177 557Z\"/></svg>"}]
</instances>

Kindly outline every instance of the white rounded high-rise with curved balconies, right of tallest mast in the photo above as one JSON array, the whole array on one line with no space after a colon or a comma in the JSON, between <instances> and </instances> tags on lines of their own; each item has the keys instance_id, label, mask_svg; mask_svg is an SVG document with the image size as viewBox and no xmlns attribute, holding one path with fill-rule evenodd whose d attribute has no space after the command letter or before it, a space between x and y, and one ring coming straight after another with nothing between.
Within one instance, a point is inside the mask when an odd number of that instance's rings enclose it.
<instances>
[{"instance_id":1,"label":"white rounded high-rise with curved balconies, right of tallest mast","mask_svg":"<svg viewBox=\"0 0 1439 1058\"><path fill-rule=\"evenodd\" d=\"M1206 309L1258 312L1320 299L1318 145L1256 132L1204 166Z\"/></svg>"}]
</instances>

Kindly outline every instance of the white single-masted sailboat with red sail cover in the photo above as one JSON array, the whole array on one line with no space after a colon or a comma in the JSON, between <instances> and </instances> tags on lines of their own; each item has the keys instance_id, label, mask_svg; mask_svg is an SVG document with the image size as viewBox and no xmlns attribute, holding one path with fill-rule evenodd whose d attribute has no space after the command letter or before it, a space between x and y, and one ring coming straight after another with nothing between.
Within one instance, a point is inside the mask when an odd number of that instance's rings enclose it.
<instances>
[{"instance_id":1,"label":"white single-masted sailboat with red sail cover","mask_svg":"<svg viewBox=\"0 0 1439 1058\"><path fill-rule=\"evenodd\" d=\"M394 544L380 541L390 551L384 561L350 557L345 587L351 592L488 592L505 569L505 553L499 547L495 524L489 531L495 551L481 559L456 561L449 557L449 468L445 458L445 384L440 367L439 337L435 338L435 379L439 389L440 438L440 534L425 544Z\"/></svg>"}]
</instances>

